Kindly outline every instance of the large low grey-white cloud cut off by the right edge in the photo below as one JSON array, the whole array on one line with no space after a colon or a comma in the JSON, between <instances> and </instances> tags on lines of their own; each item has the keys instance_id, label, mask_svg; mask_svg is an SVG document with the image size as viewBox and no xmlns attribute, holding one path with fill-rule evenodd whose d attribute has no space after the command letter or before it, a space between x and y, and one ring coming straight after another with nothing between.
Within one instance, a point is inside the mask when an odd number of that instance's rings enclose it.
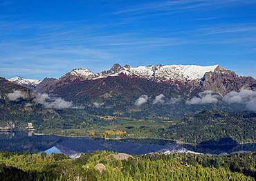
<instances>
[{"instance_id":1,"label":"large low grey-white cloud cut off by the right edge","mask_svg":"<svg viewBox=\"0 0 256 181\"><path fill-rule=\"evenodd\" d=\"M232 91L223 97L228 104L245 104L249 111L256 111L256 92L253 90L241 90L239 93Z\"/></svg>"}]
</instances>

